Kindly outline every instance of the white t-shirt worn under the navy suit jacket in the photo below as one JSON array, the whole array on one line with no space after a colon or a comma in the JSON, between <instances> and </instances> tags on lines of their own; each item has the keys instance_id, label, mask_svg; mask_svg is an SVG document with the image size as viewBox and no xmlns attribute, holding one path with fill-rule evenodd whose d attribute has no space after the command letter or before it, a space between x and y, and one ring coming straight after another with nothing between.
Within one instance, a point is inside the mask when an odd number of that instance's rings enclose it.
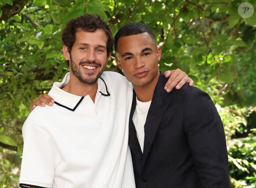
<instances>
[{"instance_id":1,"label":"white t-shirt worn under the navy suit jacket","mask_svg":"<svg viewBox=\"0 0 256 188\"><path fill-rule=\"evenodd\" d=\"M132 121L136 129L139 145L142 152L143 152L144 137L145 137L144 125L146 123L147 113L150 105L151 105L151 101L142 102L142 101L139 101L138 98L136 97L136 109L132 116Z\"/></svg>"}]
</instances>

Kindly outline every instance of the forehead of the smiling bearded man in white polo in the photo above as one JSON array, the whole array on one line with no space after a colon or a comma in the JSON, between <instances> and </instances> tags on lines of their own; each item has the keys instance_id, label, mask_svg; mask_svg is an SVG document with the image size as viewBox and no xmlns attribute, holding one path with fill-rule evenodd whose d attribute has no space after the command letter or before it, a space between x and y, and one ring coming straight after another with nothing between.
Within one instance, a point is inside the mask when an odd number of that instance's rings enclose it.
<instances>
[{"instance_id":1,"label":"forehead of the smiling bearded man in white polo","mask_svg":"<svg viewBox=\"0 0 256 188\"><path fill-rule=\"evenodd\" d=\"M75 33L75 43L101 44L106 45L107 36L105 31L97 29L94 32L85 32L83 30Z\"/></svg>"}]
</instances>

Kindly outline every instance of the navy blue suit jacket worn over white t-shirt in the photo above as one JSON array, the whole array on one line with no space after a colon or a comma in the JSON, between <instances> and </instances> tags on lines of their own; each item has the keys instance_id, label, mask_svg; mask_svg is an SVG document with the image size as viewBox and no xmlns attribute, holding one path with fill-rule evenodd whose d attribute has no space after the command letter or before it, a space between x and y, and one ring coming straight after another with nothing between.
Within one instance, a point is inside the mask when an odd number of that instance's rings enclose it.
<instances>
[{"instance_id":1,"label":"navy blue suit jacket worn over white t-shirt","mask_svg":"<svg viewBox=\"0 0 256 188\"><path fill-rule=\"evenodd\" d=\"M222 121L209 95L185 84L170 93L160 72L144 126L141 152L132 116L129 146L136 188L229 188Z\"/></svg>"}]
</instances>

